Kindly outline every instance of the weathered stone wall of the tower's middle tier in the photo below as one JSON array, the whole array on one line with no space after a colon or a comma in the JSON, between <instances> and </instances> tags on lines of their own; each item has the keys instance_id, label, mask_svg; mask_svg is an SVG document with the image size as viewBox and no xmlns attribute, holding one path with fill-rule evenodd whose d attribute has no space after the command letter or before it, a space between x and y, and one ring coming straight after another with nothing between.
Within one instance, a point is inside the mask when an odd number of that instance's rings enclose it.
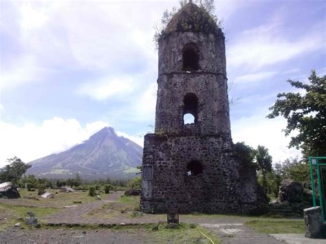
<instances>
[{"instance_id":1,"label":"weathered stone wall of the tower's middle tier","mask_svg":"<svg viewBox=\"0 0 326 244\"><path fill-rule=\"evenodd\" d=\"M193 134L230 135L230 118L226 80L215 74L171 74L158 79L156 133L189 133L184 126L184 96L195 93L198 98L198 121ZM197 129L195 129L197 128Z\"/></svg>"}]
</instances>

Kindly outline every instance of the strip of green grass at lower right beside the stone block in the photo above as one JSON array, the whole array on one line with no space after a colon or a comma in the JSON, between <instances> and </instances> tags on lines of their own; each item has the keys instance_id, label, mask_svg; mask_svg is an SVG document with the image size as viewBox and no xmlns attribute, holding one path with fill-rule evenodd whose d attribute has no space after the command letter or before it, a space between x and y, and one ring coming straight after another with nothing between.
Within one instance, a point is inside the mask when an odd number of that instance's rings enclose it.
<instances>
[{"instance_id":1,"label":"strip of green grass at lower right beside the stone block","mask_svg":"<svg viewBox=\"0 0 326 244\"><path fill-rule=\"evenodd\" d=\"M248 221L245 225L266 234L303 234L305 232L303 220L262 219Z\"/></svg>"}]
</instances>

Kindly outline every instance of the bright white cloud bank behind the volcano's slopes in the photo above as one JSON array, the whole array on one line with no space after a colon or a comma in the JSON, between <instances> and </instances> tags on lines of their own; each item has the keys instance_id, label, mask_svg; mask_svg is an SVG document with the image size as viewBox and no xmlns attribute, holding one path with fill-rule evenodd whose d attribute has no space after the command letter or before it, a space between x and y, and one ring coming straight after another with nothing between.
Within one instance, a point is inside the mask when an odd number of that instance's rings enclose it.
<instances>
[{"instance_id":1,"label":"bright white cloud bank behind the volcano's slopes","mask_svg":"<svg viewBox=\"0 0 326 244\"><path fill-rule=\"evenodd\" d=\"M20 157L23 162L30 162L52 153L59 153L87 140L99 131L107 122L97 121L81 126L75 119L52 118L42 124L24 124L16 126L0 121L0 167L6 159ZM141 138L120 133L142 145Z\"/></svg>"}]
</instances>

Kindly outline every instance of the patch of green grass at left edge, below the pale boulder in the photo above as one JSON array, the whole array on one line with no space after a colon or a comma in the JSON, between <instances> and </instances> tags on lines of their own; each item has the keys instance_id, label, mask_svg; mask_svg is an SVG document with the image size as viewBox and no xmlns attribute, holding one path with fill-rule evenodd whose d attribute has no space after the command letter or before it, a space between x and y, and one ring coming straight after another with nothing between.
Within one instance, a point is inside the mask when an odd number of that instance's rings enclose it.
<instances>
[{"instance_id":1,"label":"patch of green grass at left edge, below the pale boulder","mask_svg":"<svg viewBox=\"0 0 326 244\"><path fill-rule=\"evenodd\" d=\"M0 204L0 231L8 230L8 228L12 228L15 223L21 223L23 228L28 228L25 225L25 217L28 217L26 212L32 211L39 223L42 223L42 218L48 214L54 214L60 210L54 208L34 208L34 207L24 207L24 206L12 206L10 204ZM18 220L17 218L21 217L23 220Z\"/></svg>"}]
</instances>

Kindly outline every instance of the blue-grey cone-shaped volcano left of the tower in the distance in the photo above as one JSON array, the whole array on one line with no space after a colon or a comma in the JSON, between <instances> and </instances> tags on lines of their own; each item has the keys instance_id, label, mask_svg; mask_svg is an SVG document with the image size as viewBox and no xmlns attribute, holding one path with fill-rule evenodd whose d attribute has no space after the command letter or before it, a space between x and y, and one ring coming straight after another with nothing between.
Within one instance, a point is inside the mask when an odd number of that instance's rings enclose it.
<instances>
[{"instance_id":1,"label":"blue-grey cone-shaped volcano left of the tower in the distance","mask_svg":"<svg viewBox=\"0 0 326 244\"><path fill-rule=\"evenodd\" d=\"M69 178L78 172L83 179L127 179L135 177L142 164L142 147L105 127L82 144L29 164L27 174L38 177Z\"/></svg>"}]
</instances>

